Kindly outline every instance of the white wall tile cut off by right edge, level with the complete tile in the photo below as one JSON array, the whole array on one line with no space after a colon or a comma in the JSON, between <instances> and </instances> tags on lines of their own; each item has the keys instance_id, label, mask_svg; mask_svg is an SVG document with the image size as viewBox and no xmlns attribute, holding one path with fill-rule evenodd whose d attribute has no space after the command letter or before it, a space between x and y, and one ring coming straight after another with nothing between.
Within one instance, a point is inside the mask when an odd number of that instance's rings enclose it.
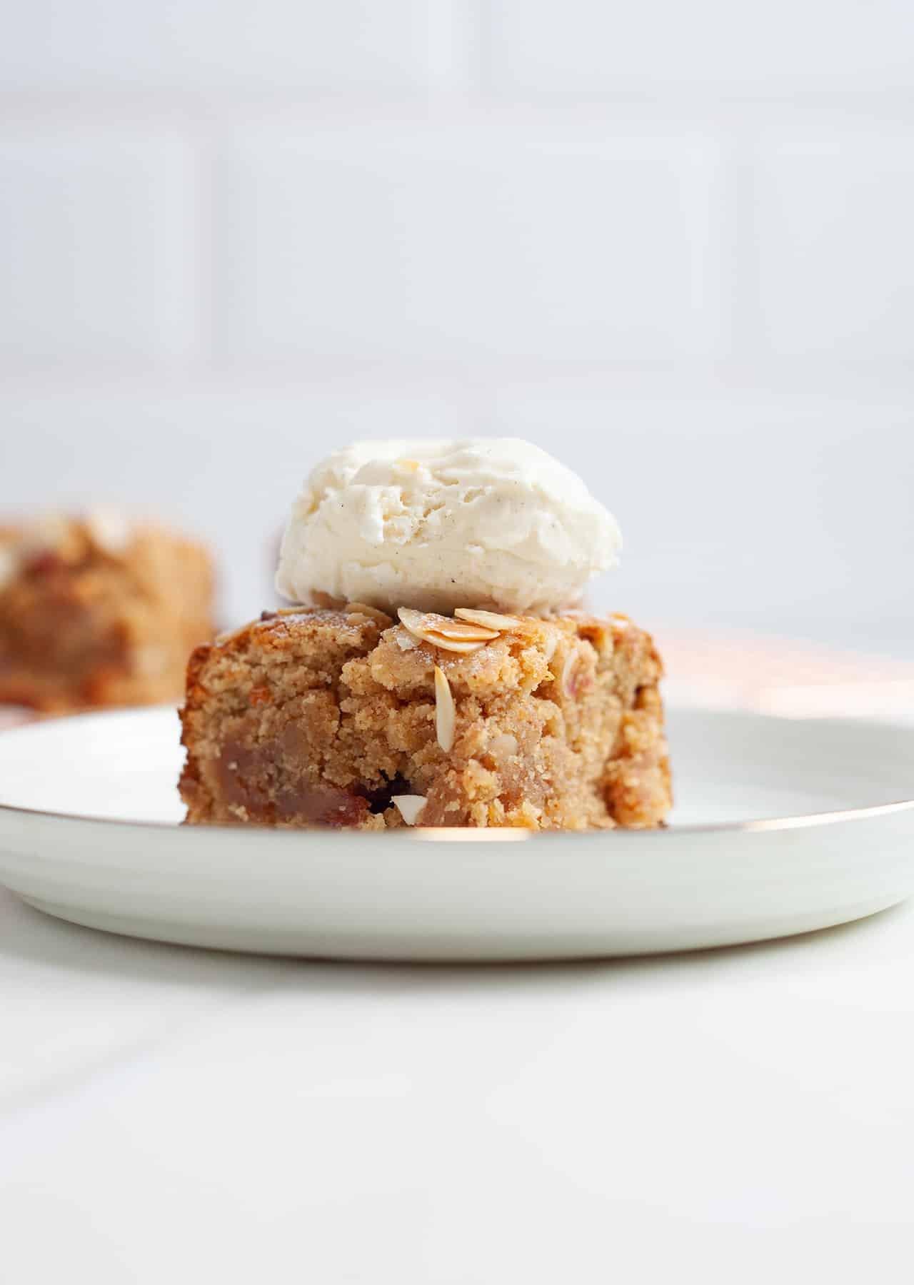
<instances>
[{"instance_id":1,"label":"white wall tile cut off by right edge, level with the complete tile","mask_svg":"<svg viewBox=\"0 0 914 1285\"><path fill-rule=\"evenodd\" d=\"M766 132L751 218L769 351L914 359L914 130Z\"/></svg>"}]
</instances>

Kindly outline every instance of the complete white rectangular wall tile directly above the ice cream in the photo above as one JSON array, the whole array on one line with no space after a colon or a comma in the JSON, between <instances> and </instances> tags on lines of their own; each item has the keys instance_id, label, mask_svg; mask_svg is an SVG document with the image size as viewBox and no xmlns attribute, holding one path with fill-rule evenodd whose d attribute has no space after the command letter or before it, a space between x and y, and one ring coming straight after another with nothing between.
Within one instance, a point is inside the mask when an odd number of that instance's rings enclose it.
<instances>
[{"instance_id":1,"label":"complete white rectangular wall tile directly above the ice cream","mask_svg":"<svg viewBox=\"0 0 914 1285\"><path fill-rule=\"evenodd\" d=\"M240 134L226 350L614 362L721 344L716 145L586 116Z\"/></svg>"}]
</instances>

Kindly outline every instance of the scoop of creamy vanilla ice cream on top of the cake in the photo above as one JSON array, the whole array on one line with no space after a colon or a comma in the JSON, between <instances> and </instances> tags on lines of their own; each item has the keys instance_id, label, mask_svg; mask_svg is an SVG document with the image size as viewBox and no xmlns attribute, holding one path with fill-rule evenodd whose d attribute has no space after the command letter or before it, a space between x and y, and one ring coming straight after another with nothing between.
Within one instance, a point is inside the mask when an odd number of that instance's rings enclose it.
<instances>
[{"instance_id":1,"label":"scoop of creamy vanilla ice cream on top of the cake","mask_svg":"<svg viewBox=\"0 0 914 1285\"><path fill-rule=\"evenodd\" d=\"M372 607L545 613L580 599L621 547L614 518L515 437L356 442L292 508L276 589Z\"/></svg>"}]
</instances>

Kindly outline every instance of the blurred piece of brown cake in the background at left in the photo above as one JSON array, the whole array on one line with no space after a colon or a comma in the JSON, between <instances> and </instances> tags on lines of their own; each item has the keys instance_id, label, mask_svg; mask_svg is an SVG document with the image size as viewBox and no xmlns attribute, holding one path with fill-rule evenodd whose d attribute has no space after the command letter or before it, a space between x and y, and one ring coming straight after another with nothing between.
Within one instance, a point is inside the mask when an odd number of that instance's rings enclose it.
<instances>
[{"instance_id":1,"label":"blurred piece of brown cake in the background at left","mask_svg":"<svg viewBox=\"0 0 914 1285\"><path fill-rule=\"evenodd\" d=\"M113 509L0 527L0 702L63 713L180 696L213 634L207 550Z\"/></svg>"}]
</instances>

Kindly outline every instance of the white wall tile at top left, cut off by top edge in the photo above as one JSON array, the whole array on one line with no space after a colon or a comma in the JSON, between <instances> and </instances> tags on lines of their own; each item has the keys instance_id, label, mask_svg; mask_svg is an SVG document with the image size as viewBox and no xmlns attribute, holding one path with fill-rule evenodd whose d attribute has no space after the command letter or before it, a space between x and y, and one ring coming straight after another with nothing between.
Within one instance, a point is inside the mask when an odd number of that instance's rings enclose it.
<instances>
[{"instance_id":1,"label":"white wall tile at top left, cut off by top edge","mask_svg":"<svg viewBox=\"0 0 914 1285\"><path fill-rule=\"evenodd\" d=\"M8 89L363 89L446 82L458 0L31 0L4 24Z\"/></svg>"}]
</instances>

